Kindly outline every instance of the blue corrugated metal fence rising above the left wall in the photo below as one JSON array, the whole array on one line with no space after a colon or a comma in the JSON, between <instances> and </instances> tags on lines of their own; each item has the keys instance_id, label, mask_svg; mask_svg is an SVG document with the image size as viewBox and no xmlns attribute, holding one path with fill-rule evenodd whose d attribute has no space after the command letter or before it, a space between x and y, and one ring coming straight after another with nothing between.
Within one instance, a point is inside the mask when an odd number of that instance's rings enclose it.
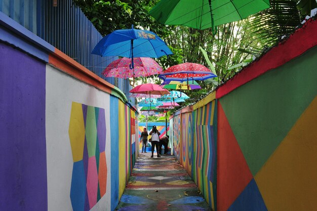
<instances>
[{"instance_id":1,"label":"blue corrugated metal fence rising above the left wall","mask_svg":"<svg viewBox=\"0 0 317 211\"><path fill-rule=\"evenodd\" d=\"M71 0L0 0L0 11L47 41L97 76L123 90L129 97L128 80L105 78L103 69L117 56L91 54L101 40L101 34ZM134 105L134 99L131 100Z\"/></svg>"}]
</instances>

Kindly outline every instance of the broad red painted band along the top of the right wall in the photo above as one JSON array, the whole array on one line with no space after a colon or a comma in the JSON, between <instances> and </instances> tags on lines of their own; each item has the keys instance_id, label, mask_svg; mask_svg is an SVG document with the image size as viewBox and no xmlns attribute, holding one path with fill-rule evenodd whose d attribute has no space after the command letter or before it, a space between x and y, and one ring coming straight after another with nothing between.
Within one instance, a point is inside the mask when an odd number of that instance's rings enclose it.
<instances>
[{"instance_id":1,"label":"broad red painted band along the top of the right wall","mask_svg":"<svg viewBox=\"0 0 317 211\"><path fill-rule=\"evenodd\" d=\"M247 82L259 77L273 68L300 56L308 49L317 45L317 20L309 19L303 27L297 29L289 39L281 42L264 54L260 60L251 63L242 72L228 80L216 90L216 98L233 91Z\"/></svg>"}]
</instances>

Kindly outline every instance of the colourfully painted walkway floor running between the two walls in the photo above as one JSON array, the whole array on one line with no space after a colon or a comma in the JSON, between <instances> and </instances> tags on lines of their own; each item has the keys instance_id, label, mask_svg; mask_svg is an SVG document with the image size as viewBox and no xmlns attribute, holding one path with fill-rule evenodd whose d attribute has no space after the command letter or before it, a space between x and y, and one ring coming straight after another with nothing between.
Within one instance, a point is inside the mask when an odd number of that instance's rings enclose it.
<instances>
[{"instance_id":1,"label":"colourfully painted walkway floor running between the two walls","mask_svg":"<svg viewBox=\"0 0 317 211\"><path fill-rule=\"evenodd\" d=\"M211 210L174 156L150 156L138 157L115 210Z\"/></svg>"}]
</instances>

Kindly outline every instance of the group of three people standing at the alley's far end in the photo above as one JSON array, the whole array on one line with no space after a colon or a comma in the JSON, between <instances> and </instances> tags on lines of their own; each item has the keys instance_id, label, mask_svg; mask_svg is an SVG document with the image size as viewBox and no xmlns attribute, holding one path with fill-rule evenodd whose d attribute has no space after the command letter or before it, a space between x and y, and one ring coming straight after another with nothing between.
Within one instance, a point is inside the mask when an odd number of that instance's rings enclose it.
<instances>
[{"instance_id":1,"label":"group of three people standing at the alley's far end","mask_svg":"<svg viewBox=\"0 0 317 211\"><path fill-rule=\"evenodd\" d=\"M144 153L146 153L146 145L147 145L147 137L148 133L146 130L146 127L143 128L143 131L141 132L141 137L140 137L140 143L142 143L142 152L144 149ZM156 152L157 152L157 157L161 157L160 154L162 155L162 146L164 146L164 154L167 154L167 149L168 149L168 144L169 144L169 136L164 135L162 138L160 138L161 133L156 129L156 126L154 125L152 127L152 131L150 132L151 135L151 144L152 144L152 156L154 154L154 147L156 147Z\"/></svg>"}]
</instances>

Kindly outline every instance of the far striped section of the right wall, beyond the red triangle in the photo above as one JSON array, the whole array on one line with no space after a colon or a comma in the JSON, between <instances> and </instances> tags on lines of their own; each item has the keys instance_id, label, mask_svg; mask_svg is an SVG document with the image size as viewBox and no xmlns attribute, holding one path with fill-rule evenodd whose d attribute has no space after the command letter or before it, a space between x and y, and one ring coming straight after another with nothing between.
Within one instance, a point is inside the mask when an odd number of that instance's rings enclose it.
<instances>
[{"instance_id":1,"label":"far striped section of the right wall, beyond the red triangle","mask_svg":"<svg viewBox=\"0 0 317 211\"><path fill-rule=\"evenodd\" d=\"M174 155L216 207L217 109L215 95L173 116Z\"/></svg>"}]
</instances>

